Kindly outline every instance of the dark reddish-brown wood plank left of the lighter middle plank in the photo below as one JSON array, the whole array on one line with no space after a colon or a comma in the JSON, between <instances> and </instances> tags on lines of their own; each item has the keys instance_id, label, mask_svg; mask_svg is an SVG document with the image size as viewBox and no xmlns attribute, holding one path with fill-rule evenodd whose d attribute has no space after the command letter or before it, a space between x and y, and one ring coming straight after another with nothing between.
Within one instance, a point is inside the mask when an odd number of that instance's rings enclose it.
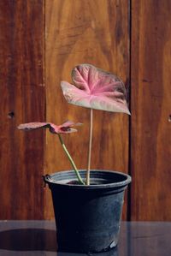
<instances>
[{"instance_id":1,"label":"dark reddish-brown wood plank left of the lighter middle plank","mask_svg":"<svg viewBox=\"0 0 171 256\"><path fill-rule=\"evenodd\" d=\"M43 218L44 1L0 1L0 219Z\"/></svg>"}]
</instances>

